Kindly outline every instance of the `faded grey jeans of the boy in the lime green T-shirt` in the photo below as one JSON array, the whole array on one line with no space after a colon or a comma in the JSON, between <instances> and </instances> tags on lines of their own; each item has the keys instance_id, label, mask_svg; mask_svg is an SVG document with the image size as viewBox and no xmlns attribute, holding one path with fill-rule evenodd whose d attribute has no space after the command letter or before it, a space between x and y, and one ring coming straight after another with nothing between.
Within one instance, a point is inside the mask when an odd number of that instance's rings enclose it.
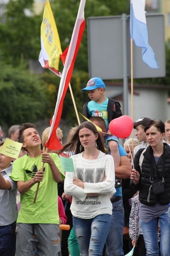
<instances>
[{"instance_id":1,"label":"faded grey jeans of the boy in the lime green T-shirt","mask_svg":"<svg viewBox=\"0 0 170 256\"><path fill-rule=\"evenodd\" d=\"M17 223L16 235L17 256L58 256L60 253L58 224Z\"/></svg>"}]
</instances>

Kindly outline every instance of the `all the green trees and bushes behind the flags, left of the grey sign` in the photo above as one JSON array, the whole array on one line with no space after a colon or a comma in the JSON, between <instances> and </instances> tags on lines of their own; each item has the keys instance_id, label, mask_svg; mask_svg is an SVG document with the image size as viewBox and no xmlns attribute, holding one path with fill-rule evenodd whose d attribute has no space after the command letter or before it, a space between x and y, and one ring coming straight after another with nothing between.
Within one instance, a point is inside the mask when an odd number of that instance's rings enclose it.
<instances>
[{"instance_id":1,"label":"all the green trees and bushes behind the flags, left of the grey sign","mask_svg":"<svg viewBox=\"0 0 170 256\"><path fill-rule=\"evenodd\" d=\"M69 45L80 0L51 0L57 30L64 51ZM127 0L86 0L85 21L90 16L129 13ZM0 17L0 125L35 123L37 119L54 114L60 78L50 70L43 75L30 74L29 60L38 60L40 52L40 15L27 15L33 11L33 0L9 0ZM23 67L24 62L25 65ZM60 64L62 70L62 64ZM87 22L71 79L77 109L88 96L81 92L88 81ZM78 124L70 92L66 93L62 118L71 125ZM81 119L81 116L80 116Z\"/></svg>"}]
</instances>

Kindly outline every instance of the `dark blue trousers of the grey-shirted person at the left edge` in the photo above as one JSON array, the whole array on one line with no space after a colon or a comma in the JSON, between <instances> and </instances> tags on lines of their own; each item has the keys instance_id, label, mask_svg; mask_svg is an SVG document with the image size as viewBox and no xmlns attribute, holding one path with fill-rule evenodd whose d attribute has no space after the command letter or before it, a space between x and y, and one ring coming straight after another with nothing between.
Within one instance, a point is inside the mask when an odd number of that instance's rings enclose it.
<instances>
[{"instance_id":1,"label":"dark blue trousers of the grey-shirted person at the left edge","mask_svg":"<svg viewBox=\"0 0 170 256\"><path fill-rule=\"evenodd\" d=\"M16 222L0 226L0 256L15 256L16 249Z\"/></svg>"}]
</instances>

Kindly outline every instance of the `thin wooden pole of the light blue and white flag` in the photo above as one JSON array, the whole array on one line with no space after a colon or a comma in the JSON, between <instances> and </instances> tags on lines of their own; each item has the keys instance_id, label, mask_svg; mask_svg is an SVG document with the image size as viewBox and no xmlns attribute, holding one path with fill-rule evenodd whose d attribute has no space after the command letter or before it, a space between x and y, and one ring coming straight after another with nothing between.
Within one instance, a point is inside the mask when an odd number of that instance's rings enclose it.
<instances>
[{"instance_id":1,"label":"thin wooden pole of the light blue and white flag","mask_svg":"<svg viewBox=\"0 0 170 256\"><path fill-rule=\"evenodd\" d=\"M133 87L133 38L131 38L131 118L134 120L134 87ZM134 158L134 129L132 129L132 159Z\"/></svg>"}]
</instances>

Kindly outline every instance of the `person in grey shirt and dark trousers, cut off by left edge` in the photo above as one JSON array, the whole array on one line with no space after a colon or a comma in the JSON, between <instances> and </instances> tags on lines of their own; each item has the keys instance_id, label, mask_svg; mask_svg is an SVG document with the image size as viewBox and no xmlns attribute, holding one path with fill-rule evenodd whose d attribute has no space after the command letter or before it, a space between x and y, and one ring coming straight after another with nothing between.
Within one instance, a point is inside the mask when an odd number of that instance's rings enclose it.
<instances>
[{"instance_id":1,"label":"person in grey shirt and dark trousers, cut off by left edge","mask_svg":"<svg viewBox=\"0 0 170 256\"><path fill-rule=\"evenodd\" d=\"M0 154L0 256L15 256L16 249L17 184L9 177L12 160Z\"/></svg>"}]
</instances>

